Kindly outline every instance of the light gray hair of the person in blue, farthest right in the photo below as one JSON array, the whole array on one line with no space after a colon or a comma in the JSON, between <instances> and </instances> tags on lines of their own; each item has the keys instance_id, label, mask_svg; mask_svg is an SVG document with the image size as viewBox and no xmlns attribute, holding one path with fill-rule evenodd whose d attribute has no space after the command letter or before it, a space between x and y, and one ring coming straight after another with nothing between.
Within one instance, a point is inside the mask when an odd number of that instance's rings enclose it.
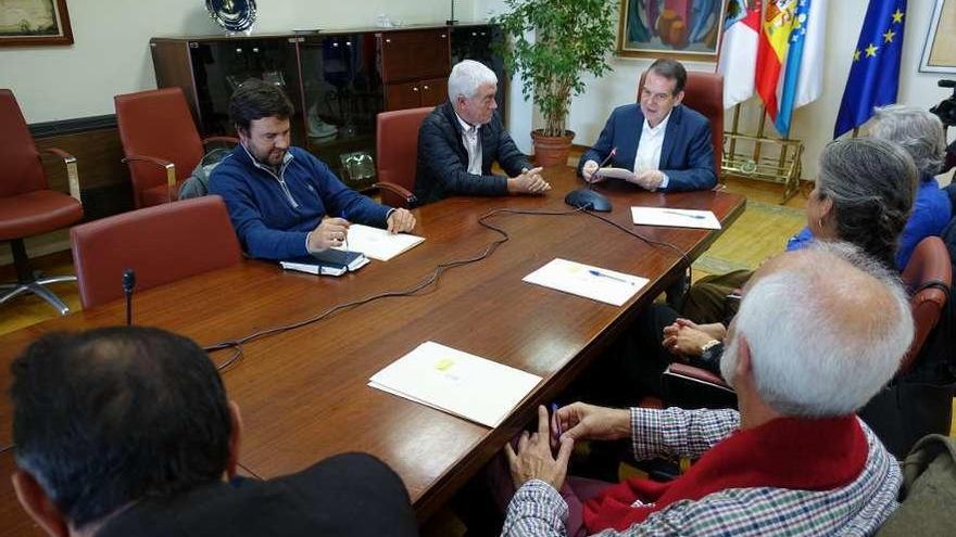
<instances>
[{"instance_id":1,"label":"light gray hair of the person in blue, farthest right","mask_svg":"<svg viewBox=\"0 0 956 537\"><path fill-rule=\"evenodd\" d=\"M940 172L946 153L943 122L928 111L905 104L876 110L869 132L872 138L898 143L913 157L920 179Z\"/></svg>"}]
</instances>

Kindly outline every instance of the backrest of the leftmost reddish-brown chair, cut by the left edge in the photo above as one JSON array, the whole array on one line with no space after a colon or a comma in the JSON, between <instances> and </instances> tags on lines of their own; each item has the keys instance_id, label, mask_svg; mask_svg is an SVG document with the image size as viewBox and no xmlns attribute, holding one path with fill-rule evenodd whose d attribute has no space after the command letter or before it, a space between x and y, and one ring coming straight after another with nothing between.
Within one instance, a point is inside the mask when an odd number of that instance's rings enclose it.
<instances>
[{"instance_id":1,"label":"backrest of the leftmost reddish-brown chair, cut by the left edge","mask_svg":"<svg viewBox=\"0 0 956 537\"><path fill-rule=\"evenodd\" d=\"M0 197L47 189L34 138L9 89L0 89Z\"/></svg>"}]
</instances>

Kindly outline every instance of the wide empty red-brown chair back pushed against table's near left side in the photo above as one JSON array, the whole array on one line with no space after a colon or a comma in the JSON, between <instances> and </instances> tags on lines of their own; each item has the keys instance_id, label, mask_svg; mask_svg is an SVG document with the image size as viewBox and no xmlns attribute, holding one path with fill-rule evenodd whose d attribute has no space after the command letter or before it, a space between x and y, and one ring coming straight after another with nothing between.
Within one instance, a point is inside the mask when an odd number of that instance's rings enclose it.
<instances>
[{"instance_id":1,"label":"wide empty red-brown chair back pushed against table's near left side","mask_svg":"<svg viewBox=\"0 0 956 537\"><path fill-rule=\"evenodd\" d=\"M70 230L84 308L123 296L123 270L136 271L136 289L240 263L242 252L217 195L156 205Z\"/></svg>"}]
</instances>

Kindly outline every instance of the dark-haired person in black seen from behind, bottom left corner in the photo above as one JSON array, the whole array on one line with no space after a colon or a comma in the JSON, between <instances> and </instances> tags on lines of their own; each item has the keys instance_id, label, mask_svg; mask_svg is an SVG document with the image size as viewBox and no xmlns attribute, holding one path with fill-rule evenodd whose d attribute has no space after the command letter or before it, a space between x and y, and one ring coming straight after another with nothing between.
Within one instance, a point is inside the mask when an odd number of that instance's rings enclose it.
<instances>
[{"instance_id":1,"label":"dark-haired person in black seen from behind, bottom left corner","mask_svg":"<svg viewBox=\"0 0 956 537\"><path fill-rule=\"evenodd\" d=\"M401 480L367 455L236 477L239 408L186 337L53 333L11 370L13 486L47 535L417 535Z\"/></svg>"}]
</instances>

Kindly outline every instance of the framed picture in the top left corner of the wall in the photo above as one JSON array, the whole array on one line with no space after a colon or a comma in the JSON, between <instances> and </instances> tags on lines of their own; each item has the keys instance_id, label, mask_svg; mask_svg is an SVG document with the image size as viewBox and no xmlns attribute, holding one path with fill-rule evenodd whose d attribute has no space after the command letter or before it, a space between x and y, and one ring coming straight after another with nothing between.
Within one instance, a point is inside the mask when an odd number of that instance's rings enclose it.
<instances>
[{"instance_id":1,"label":"framed picture in the top left corner of the wall","mask_svg":"<svg viewBox=\"0 0 956 537\"><path fill-rule=\"evenodd\" d=\"M66 0L0 0L0 47L73 44Z\"/></svg>"}]
</instances>

